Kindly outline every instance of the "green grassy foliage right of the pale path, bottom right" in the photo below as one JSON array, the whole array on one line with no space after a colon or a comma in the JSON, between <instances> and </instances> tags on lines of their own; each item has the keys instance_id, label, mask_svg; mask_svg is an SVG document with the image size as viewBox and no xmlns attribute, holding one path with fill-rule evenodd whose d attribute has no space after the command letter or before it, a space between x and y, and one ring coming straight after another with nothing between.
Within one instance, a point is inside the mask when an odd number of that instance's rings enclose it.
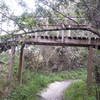
<instances>
[{"instance_id":1,"label":"green grassy foliage right of the pale path, bottom right","mask_svg":"<svg viewBox=\"0 0 100 100\"><path fill-rule=\"evenodd\" d=\"M88 87L85 81L80 80L72 84L65 92L65 100L96 100L95 86L92 87L92 94L88 94Z\"/></svg>"}]
</instances>

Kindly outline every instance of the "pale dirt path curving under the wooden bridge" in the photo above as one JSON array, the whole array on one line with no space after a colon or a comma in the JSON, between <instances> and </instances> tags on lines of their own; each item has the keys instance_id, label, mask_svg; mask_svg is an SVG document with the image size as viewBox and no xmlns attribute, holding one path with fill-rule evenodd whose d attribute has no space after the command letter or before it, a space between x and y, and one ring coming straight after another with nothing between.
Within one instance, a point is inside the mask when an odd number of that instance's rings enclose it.
<instances>
[{"instance_id":1,"label":"pale dirt path curving under the wooden bridge","mask_svg":"<svg viewBox=\"0 0 100 100\"><path fill-rule=\"evenodd\" d=\"M63 100L64 91L72 84L72 80L51 83L40 94L40 100Z\"/></svg>"}]
</instances>

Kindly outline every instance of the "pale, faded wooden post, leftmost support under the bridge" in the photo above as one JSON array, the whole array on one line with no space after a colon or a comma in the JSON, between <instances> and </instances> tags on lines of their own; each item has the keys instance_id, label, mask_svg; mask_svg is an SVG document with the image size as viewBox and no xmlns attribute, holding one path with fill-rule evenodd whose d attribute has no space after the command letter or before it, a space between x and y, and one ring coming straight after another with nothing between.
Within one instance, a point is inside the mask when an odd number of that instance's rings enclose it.
<instances>
[{"instance_id":1,"label":"pale, faded wooden post, leftmost support under the bridge","mask_svg":"<svg viewBox=\"0 0 100 100\"><path fill-rule=\"evenodd\" d=\"M14 67L14 58L15 58L15 46L11 47L11 57L10 57L10 66L9 66L9 74L8 80L13 80L13 67Z\"/></svg>"}]
</instances>

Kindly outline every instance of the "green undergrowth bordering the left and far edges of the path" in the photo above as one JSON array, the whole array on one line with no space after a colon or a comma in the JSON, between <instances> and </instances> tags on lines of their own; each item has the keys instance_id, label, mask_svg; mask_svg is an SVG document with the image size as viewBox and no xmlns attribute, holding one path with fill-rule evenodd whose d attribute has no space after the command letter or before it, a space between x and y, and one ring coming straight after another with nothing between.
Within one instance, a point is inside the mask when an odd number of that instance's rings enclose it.
<instances>
[{"instance_id":1,"label":"green undergrowth bordering the left and far edges of the path","mask_svg":"<svg viewBox=\"0 0 100 100\"><path fill-rule=\"evenodd\" d=\"M37 94L49 83L68 79L85 80L86 73L85 68L56 73L36 73L27 70L23 73L23 85L16 86L9 98L3 100L37 100Z\"/></svg>"}]
</instances>

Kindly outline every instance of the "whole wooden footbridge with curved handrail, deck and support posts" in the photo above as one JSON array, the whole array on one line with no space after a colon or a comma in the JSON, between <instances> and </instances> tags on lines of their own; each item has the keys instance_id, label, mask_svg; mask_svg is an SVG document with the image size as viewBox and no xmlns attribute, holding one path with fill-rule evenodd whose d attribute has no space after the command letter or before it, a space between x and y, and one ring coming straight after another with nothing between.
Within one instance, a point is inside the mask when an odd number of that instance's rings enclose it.
<instances>
[{"instance_id":1,"label":"whole wooden footbridge with curved handrail, deck and support posts","mask_svg":"<svg viewBox=\"0 0 100 100\"><path fill-rule=\"evenodd\" d=\"M72 25L71 27L65 26L64 28L55 29L42 29L35 30L28 33L35 32L46 32L46 31L61 31L61 30L83 30L90 31L98 36L100 36L93 28L87 27L85 25ZM24 34L25 35L25 34ZM93 79L93 66L94 66L94 50L93 48L100 49L100 38L95 37L67 37L67 36L51 36L51 35L13 35L11 38L6 38L0 41L0 52L11 49L12 62L14 62L14 52L15 47L18 45L21 46L20 50L20 58L19 58L19 71L18 71L18 79L19 82L22 83L22 69L23 69L23 50L25 44L28 45L49 45L49 46L79 46L79 47L87 47L89 50L88 54L88 82L92 82ZM11 65L13 67L13 63Z\"/></svg>"}]
</instances>

